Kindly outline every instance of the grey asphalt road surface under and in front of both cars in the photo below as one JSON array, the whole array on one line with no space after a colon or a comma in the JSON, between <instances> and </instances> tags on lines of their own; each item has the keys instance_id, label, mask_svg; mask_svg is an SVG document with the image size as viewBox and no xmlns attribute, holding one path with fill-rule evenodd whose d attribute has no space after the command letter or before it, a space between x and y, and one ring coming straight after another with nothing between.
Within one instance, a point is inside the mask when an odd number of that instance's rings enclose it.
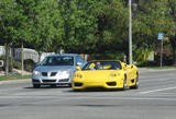
<instances>
[{"instance_id":1,"label":"grey asphalt road surface under and in front of both cars","mask_svg":"<svg viewBox=\"0 0 176 119\"><path fill-rule=\"evenodd\" d=\"M140 70L140 88L73 92L0 82L0 119L176 119L176 70Z\"/></svg>"}]
</instances>

